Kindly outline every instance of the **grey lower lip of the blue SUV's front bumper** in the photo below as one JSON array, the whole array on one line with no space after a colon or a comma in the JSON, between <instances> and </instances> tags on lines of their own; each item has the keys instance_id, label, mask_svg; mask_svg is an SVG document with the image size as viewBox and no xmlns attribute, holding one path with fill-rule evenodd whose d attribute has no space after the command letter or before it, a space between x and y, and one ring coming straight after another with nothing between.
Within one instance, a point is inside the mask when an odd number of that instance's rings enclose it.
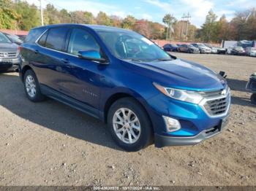
<instances>
[{"instance_id":1,"label":"grey lower lip of the blue SUV's front bumper","mask_svg":"<svg viewBox=\"0 0 256 191\"><path fill-rule=\"evenodd\" d=\"M203 130L198 133L196 136L187 136L187 137L172 137L172 136L161 136L157 133L154 135L154 144L155 147L167 147L167 146L186 146L186 145L195 145L199 144L206 139L210 139L213 136L217 136L222 132L223 128L227 125L228 117L221 120L219 125L214 128Z\"/></svg>"}]
</instances>

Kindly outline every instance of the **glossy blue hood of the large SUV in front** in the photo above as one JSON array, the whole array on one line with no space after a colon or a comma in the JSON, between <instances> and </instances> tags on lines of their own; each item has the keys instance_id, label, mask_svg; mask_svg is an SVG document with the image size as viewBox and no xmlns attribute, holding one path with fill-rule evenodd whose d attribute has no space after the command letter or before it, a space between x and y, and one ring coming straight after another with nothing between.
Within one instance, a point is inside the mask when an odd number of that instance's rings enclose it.
<instances>
[{"instance_id":1,"label":"glossy blue hood of the large SUV in front","mask_svg":"<svg viewBox=\"0 0 256 191\"><path fill-rule=\"evenodd\" d=\"M152 82L184 90L209 91L223 89L227 82L219 74L197 63L176 59L157 62L126 62L132 71L146 75Z\"/></svg>"}]
</instances>

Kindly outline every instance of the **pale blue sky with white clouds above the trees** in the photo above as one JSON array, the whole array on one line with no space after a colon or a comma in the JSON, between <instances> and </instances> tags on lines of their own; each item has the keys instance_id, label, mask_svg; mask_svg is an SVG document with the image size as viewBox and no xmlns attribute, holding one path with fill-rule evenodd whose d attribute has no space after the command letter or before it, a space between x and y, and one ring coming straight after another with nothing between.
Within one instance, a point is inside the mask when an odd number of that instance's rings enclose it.
<instances>
[{"instance_id":1,"label":"pale blue sky with white clouds above the trees","mask_svg":"<svg viewBox=\"0 0 256 191\"><path fill-rule=\"evenodd\" d=\"M26 0L39 6L39 0ZM191 23L200 28L212 9L219 17L226 15L230 20L237 11L256 7L256 0L42 0L43 6L51 3L57 9L83 10L97 15L99 11L108 15L126 17L133 15L162 23L162 17L173 14L178 20L189 12Z\"/></svg>"}]
</instances>

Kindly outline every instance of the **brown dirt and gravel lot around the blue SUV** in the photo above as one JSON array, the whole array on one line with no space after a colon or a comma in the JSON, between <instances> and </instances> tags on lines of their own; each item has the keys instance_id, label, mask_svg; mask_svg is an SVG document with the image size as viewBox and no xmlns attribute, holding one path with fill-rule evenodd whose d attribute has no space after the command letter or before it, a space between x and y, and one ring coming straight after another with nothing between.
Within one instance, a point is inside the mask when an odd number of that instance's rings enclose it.
<instances>
[{"instance_id":1,"label":"brown dirt and gravel lot around the blue SUV","mask_svg":"<svg viewBox=\"0 0 256 191\"><path fill-rule=\"evenodd\" d=\"M227 72L230 123L193 147L127 153L105 124L57 101L33 104L0 74L0 185L256 185L256 107L244 91L256 58L175 54Z\"/></svg>"}]
</instances>

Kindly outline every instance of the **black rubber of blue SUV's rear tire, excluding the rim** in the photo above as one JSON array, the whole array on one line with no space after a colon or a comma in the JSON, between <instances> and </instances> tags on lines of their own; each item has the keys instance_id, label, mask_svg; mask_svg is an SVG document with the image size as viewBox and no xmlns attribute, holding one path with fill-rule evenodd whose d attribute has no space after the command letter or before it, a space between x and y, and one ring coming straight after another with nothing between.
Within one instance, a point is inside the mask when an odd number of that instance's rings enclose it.
<instances>
[{"instance_id":1,"label":"black rubber of blue SUV's rear tire, excluding the rim","mask_svg":"<svg viewBox=\"0 0 256 191\"><path fill-rule=\"evenodd\" d=\"M36 90L36 93L34 96L29 95L29 92L26 88L27 77L32 77L34 79L34 85L35 85L35 90ZM27 96L27 98L29 98L30 101L39 102L39 101L45 100L45 95L42 95L42 93L41 93L39 82L38 82L36 74L34 74L34 71L32 71L32 70L26 71L24 78L23 78L23 85L24 85L24 90L25 90L26 96Z\"/></svg>"}]
</instances>

